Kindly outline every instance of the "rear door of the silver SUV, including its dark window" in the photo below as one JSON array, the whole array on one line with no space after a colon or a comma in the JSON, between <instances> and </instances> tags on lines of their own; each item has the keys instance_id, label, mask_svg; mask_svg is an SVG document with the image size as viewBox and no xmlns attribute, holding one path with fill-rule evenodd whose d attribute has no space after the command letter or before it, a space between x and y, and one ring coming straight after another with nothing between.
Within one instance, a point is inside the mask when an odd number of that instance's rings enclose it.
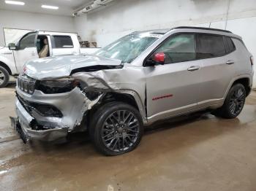
<instances>
[{"instance_id":1,"label":"rear door of the silver SUV, including its dark window","mask_svg":"<svg viewBox=\"0 0 256 191\"><path fill-rule=\"evenodd\" d=\"M230 37L214 34L197 34L197 60L201 61L199 106L216 104L225 95L236 75L236 50Z\"/></svg>"}]
</instances>

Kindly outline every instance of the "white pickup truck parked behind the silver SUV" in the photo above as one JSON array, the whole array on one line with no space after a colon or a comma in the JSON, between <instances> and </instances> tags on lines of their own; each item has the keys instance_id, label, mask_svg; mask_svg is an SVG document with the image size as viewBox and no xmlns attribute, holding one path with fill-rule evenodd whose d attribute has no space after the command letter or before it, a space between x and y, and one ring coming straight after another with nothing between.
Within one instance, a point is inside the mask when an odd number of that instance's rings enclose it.
<instances>
[{"instance_id":1,"label":"white pickup truck parked behind the silver SUV","mask_svg":"<svg viewBox=\"0 0 256 191\"><path fill-rule=\"evenodd\" d=\"M10 75L23 71L27 61L56 55L93 54L99 48L80 48L77 34L31 31L8 47L0 47L0 87Z\"/></svg>"}]
</instances>

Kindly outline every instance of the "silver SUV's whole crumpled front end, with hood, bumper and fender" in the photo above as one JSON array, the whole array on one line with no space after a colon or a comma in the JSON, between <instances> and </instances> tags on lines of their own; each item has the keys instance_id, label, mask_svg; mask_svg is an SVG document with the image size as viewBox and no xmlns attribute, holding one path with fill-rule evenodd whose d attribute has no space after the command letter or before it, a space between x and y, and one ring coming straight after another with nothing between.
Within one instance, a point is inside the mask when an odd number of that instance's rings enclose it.
<instances>
[{"instance_id":1,"label":"silver SUV's whole crumpled front end, with hood, bumper and fender","mask_svg":"<svg viewBox=\"0 0 256 191\"><path fill-rule=\"evenodd\" d=\"M87 130L90 112L115 95L137 107L146 121L146 85L136 67L127 70L121 61L91 55L38 59L24 71L16 86L18 118L12 118L24 142L55 141Z\"/></svg>"}]
</instances>

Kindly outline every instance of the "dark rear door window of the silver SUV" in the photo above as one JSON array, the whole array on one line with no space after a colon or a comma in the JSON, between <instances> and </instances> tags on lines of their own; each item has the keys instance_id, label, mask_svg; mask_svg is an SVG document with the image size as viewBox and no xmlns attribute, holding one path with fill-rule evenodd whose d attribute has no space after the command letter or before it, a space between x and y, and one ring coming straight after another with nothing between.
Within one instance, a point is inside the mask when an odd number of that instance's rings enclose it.
<instances>
[{"instance_id":1,"label":"dark rear door window of the silver SUV","mask_svg":"<svg viewBox=\"0 0 256 191\"><path fill-rule=\"evenodd\" d=\"M222 36L211 34L197 36L197 59L214 58L226 54Z\"/></svg>"}]
</instances>

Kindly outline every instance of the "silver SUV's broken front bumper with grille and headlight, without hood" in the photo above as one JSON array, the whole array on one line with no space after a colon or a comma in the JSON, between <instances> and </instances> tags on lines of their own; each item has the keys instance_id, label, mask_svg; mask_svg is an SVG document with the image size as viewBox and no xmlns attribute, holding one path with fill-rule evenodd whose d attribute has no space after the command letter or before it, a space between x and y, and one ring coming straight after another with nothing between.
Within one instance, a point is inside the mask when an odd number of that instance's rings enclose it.
<instances>
[{"instance_id":1,"label":"silver SUV's broken front bumper with grille and headlight, without hood","mask_svg":"<svg viewBox=\"0 0 256 191\"><path fill-rule=\"evenodd\" d=\"M86 112L99 102L103 93L85 91L86 83L72 78L43 80L26 74L18 77L12 126L26 143L29 139L56 141L69 132L86 130L81 123Z\"/></svg>"}]
</instances>

